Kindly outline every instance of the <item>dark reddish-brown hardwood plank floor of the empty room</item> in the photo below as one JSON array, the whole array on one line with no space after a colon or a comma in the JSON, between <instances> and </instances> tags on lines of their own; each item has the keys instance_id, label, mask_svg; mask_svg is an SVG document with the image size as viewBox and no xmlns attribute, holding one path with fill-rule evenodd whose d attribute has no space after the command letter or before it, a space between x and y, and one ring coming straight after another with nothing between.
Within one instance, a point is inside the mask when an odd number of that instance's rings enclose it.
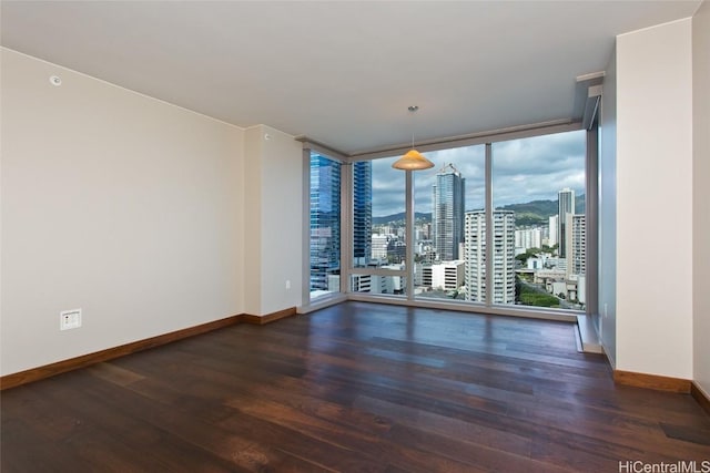
<instances>
[{"instance_id":1,"label":"dark reddish-brown hardwood plank floor of the empty room","mask_svg":"<svg viewBox=\"0 0 710 473\"><path fill-rule=\"evenodd\" d=\"M569 323L364 302L229 327L1 402L3 473L710 471L694 400L615 385Z\"/></svg>"}]
</instances>

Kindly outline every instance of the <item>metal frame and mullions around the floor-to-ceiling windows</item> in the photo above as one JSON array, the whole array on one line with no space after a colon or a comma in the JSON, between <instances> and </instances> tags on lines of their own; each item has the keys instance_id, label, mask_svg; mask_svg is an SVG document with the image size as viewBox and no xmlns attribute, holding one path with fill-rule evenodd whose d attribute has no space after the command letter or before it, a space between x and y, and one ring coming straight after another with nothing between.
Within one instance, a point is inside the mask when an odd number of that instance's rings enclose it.
<instances>
[{"instance_id":1,"label":"metal frame and mullions around the floor-to-ceiling windows","mask_svg":"<svg viewBox=\"0 0 710 473\"><path fill-rule=\"evenodd\" d=\"M343 241L341 243L342 259L341 259L341 297L337 301L342 300L361 300L372 302L384 302L405 305L412 307L426 307L434 309L450 309L459 311L469 311L478 313L490 313L501 316L521 316L528 318L542 318L551 320L576 321L578 316L596 313L598 308L598 123L592 120L590 124L584 126L582 122L574 120L561 120L555 122L547 122L542 124L535 124L530 126L517 126L505 130L498 130L491 133L473 134L454 138L442 138L436 141L429 141L426 143L418 143L416 147L420 152L440 151L446 148L455 148L470 145L486 145L486 197L485 197L485 212L487 225L493 222L493 156L491 146L493 143L519 140L526 137L551 135L556 133L565 133L571 131L586 130L586 202L587 202L587 225L586 225L586 294L588 302L584 311L571 309L548 309L548 308L534 308L528 306L510 306L510 305L495 305L493 300L493 286L486 285L486 302L471 302L471 301L458 301L458 300L434 300L426 298L417 298L414 294L414 186L413 186L413 171L404 171L405 173L405 269L393 270L382 268L354 268L351 258L353 246L353 185L352 185L352 167L348 165L342 166L344 175L341 178L343 189L342 212L342 230L341 236ZM398 146L392 148L383 148L375 152L356 153L352 155L344 155L334 150L328 148L318 143L308 141L306 137L300 138L304 143L304 153L306 150L318 150L325 153L329 157L342 160L343 164L349 164L357 161L377 160L383 157L392 157L400 153L405 153L407 147ZM308 173L305 173L308 174ZM347 209L347 212L344 212ZM486 233L487 239L493 239L493 233ZM306 243L307 245L307 243ZM486 251L493 253L493 240L486 241ZM487 254L487 258L493 255ZM594 263L594 264L592 264ZM493 266L486 265L486 280L493 280ZM406 279L405 295L372 295L363 292L349 291L349 280L352 275L387 275L387 276L403 276ZM304 299L307 301L308 299ZM333 304L337 304L333 301ZM310 308L305 308L304 311L315 310L313 304Z\"/></svg>"}]
</instances>

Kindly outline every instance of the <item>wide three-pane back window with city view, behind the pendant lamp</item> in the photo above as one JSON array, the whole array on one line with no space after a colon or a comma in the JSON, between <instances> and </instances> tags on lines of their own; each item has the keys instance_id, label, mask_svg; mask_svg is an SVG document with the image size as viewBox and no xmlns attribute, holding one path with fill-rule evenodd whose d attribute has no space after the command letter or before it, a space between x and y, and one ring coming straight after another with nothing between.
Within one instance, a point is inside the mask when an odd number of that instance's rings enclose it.
<instances>
[{"instance_id":1,"label":"wide three-pane back window with city view, behind the pendant lamp","mask_svg":"<svg viewBox=\"0 0 710 473\"><path fill-rule=\"evenodd\" d=\"M425 153L435 167L413 173L412 189L406 173L392 168L397 156L355 163L352 292L471 307L585 309L586 132L488 146L488 157L485 144ZM367 171L358 171L364 163ZM371 206L357 197L367 195L367 182ZM361 241L366 216L369 247Z\"/></svg>"}]
</instances>

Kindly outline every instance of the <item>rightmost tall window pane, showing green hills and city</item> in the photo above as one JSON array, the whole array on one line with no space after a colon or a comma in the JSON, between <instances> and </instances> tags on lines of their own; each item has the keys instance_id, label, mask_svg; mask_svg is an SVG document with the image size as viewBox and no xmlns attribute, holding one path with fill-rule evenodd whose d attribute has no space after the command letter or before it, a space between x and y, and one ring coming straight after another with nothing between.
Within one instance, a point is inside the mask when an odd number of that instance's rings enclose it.
<instances>
[{"instance_id":1,"label":"rightmost tall window pane, showing green hills and city","mask_svg":"<svg viewBox=\"0 0 710 473\"><path fill-rule=\"evenodd\" d=\"M515 299L494 304L584 308L585 186L584 131L493 144L494 222L505 234L494 274L515 274Z\"/></svg>"}]
</instances>

